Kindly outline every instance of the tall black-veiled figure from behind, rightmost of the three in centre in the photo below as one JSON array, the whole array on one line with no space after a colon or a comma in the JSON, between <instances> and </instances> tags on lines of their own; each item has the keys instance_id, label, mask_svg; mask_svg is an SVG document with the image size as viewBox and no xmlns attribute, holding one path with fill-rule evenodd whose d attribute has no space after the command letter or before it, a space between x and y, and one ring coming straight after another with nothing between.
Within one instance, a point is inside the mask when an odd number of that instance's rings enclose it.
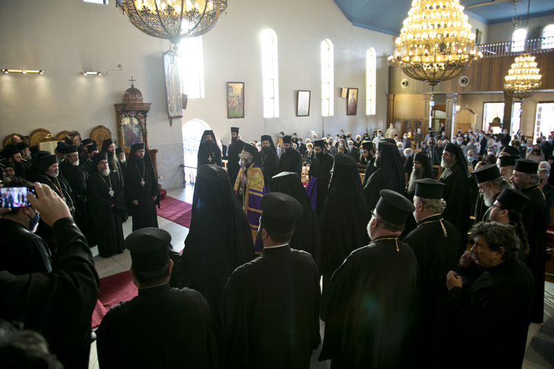
<instances>
[{"instance_id":1,"label":"tall black-veiled figure from behind, rightmost of the three in centre","mask_svg":"<svg viewBox=\"0 0 554 369\"><path fill-rule=\"evenodd\" d=\"M368 243L367 224L368 210L358 165L352 156L337 154L329 193L321 210L323 291L344 258Z\"/></svg>"}]
</instances>

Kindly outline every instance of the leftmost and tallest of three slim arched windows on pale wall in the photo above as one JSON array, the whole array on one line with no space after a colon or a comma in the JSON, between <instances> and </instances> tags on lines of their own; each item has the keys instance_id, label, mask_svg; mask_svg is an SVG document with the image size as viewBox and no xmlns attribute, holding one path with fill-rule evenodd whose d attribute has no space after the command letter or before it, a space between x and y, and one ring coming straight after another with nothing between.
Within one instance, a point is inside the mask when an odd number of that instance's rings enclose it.
<instances>
[{"instance_id":1,"label":"leftmost and tallest of three slim arched windows on pale wall","mask_svg":"<svg viewBox=\"0 0 554 369\"><path fill-rule=\"evenodd\" d=\"M279 116L279 75L277 67L277 35L274 30L262 31L262 80L264 118Z\"/></svg>"}]
</instances>

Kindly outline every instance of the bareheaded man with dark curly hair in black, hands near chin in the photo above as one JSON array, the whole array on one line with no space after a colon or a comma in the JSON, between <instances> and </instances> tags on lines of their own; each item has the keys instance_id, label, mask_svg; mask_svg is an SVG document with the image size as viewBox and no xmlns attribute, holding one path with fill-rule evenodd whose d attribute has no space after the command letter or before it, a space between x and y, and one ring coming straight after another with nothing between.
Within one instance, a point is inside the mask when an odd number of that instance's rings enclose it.
<instances>
[{"instance_id":1,"label":"bareheaded man with dark curly hair in black, hands near chin","mask_svg":"<svg viewBox=\"0 0 554 369\"><path fill-rule=\"evenodd\" d=\"M450 368L521 368L533 302L533 276L517 259L513 228L472 228L474 257L463 255L447 276L445 303ZM457 276L462 273L466 281ZM543 279L544 280L544 279ZM443 366L444 367L444 366Z\"/></svg>"}]
</instances>

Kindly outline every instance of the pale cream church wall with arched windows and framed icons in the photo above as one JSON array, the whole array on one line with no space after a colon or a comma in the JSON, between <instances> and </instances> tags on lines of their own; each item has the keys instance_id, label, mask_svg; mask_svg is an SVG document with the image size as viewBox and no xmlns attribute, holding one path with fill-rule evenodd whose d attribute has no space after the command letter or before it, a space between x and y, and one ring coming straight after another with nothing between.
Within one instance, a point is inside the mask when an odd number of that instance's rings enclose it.
<instances>
[{"instance_id":1,"label":"pale cream church wall with arched windows and framed icons","mask_svg":"<svg viewBox=\"0 0 554 369\"><path fill-rule=\"evenodd\" d=\"M220 23L203 37L205 98L190 99L182 119L170 127L161 55L166 40L141 33L114 6L75 0L8 1L0 12L1 68L43 69L44 75L0 75L0 124L3 132L29 134L45 128L53 134L105 125L117 137L115 103L123 100L133 77L135 87L151 102L148 143L159 150L159 174L164 188L181 186L172 158L181 145L181 127L202 119L228 142L229 127L241 127L247 140L279 131L298 136L332 134L344 129L361 134L386 125L388 66L394 37L357 28L332 0L247 1L229 3ZM280 116L263 118L260 33L271 28L278 37ZM334 116L321 115L321 41L334 45ZM377 111L366 116L366 51L377 53ZM109 71L102 77L80 75L85 70ZM245 116L226 118L226 82L245 83ZM357 88L356 116L346 116L341 87ZM296 91L310 90L309 117L296 117ZM182 147L182 145L181 145ZM168 159L168 165L160 162ZM173 163L176 161L177 163ZM172 163L172 164L171 164ZM165 180L164 178L164 180ZM170 183L171 182L171 183Z\"/></svg>"}]
</instances>

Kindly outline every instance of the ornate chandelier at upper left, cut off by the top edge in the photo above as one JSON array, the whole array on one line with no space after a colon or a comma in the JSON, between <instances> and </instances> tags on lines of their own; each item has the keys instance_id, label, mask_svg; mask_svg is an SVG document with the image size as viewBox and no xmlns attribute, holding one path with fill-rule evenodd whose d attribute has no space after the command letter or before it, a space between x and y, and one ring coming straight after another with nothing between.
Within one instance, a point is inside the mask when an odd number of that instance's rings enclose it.
<instances>
[{"instance_id":1,"label":"ornate chandelier at upper left, cut off by the top edge","mask_svg":"<svg viewBox=\"0 0 554 369\"><path fill-rule=\"evenodd\" d=\"M116 0L116 7L143 33L177 45L184 37L211 30L225 12L227 0Z\"/></svg>"}]
</instances>

